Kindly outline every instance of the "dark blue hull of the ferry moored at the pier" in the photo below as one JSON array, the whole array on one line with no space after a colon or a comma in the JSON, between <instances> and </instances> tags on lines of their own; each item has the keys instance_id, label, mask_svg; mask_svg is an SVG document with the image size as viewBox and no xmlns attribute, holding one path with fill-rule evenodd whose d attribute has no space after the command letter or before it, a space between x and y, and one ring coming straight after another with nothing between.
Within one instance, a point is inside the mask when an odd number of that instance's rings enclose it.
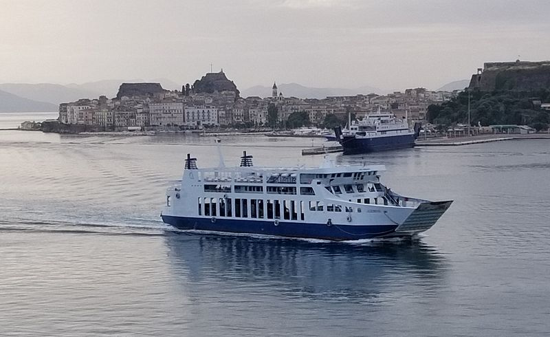
<instances>
[{"instance_id":1,"label":"dark blue hull of the ferry moored at the pier","mask_svg":"<svg viewBox=\"0 0 550 337\"><path fill-rule=\"evenodd\" d=\"M344 149L344 154L407 149L415 146L415 134L413 133L373 138L355 138L355 136L343 136L342 138L340 144Z\"/></svg>"}]
</instances>

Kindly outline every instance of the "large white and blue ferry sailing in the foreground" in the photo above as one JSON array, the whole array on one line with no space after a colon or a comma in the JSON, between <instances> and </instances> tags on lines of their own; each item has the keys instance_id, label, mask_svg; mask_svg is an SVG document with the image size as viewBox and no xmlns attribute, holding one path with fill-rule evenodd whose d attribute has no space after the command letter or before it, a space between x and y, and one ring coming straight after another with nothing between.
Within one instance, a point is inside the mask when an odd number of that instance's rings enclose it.
<instances>
[{"instance_id":1,"label":"large white and blue ferry sailing in the foreground","mask_svg":"<svg viewBox=\"0 0 550 337\"><path fill-rule=\"evenodd\" d=\"M380 182L383 165L320 168L198 168L187 155L166 191L162 220L181 230L334 241L411 237L431 228L452 201L399 195Z\"/></svg>"}]
</instances>

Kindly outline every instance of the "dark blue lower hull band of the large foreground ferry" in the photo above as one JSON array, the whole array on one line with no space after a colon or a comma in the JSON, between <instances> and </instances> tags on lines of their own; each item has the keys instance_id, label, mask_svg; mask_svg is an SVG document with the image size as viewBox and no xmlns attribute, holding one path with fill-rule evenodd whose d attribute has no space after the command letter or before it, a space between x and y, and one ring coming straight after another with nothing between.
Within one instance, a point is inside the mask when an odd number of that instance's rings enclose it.
<instances>
[{"instance_id":1,"label":"dark blue lower hull band of the large foreground ferry","mask_svg":"<svg viewBox=\"0 0 550 337\"><path fill-rule=\"evenodd\" d=\"M181 230L212 230L216 232L234 232L263 235L278 235L281 237L300 237L327 240L358 240L383 237L395 232L395 225L349 226L327 224L304 224L279 220L275 226L274 220L237 220L202 217L172 217L162 215L162 221Z\"/></svg>"}]
</instances>

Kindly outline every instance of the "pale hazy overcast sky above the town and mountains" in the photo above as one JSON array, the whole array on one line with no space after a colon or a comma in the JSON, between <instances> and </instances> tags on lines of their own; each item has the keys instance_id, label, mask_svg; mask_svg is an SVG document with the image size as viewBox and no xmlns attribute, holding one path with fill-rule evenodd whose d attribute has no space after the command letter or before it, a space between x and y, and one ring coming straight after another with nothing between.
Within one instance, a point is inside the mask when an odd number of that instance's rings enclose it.
<instances>
[{"instance_id":1,"label":"pale hazy overcast sky above the town and mountains","mask_svg":"<svg viewBox=\"0 0 550 337\"><path fill-rule=\"evenodd\" d=\"M550 1L0 0L0 83L437 89L518 55L550 58Z\"/></svg>"}]
</instances>

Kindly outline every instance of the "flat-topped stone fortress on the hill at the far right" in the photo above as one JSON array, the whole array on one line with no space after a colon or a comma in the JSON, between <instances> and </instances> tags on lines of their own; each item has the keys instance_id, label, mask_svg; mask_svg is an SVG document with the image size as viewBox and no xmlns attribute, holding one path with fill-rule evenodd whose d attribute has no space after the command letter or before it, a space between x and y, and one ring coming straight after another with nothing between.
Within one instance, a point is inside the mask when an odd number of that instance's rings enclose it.
<instances>
[{"instance_id":1,"label":"flat-topped stone fortress on the hill at the far right","mask_svg":"<svg viewBox=\"0 0 550 337\"><path fill-rule=\"evenodd\" d=\"M489 62L472 75L469 89L536 91L550 89L550 61Z\"/></svg>"}]
</instances>

